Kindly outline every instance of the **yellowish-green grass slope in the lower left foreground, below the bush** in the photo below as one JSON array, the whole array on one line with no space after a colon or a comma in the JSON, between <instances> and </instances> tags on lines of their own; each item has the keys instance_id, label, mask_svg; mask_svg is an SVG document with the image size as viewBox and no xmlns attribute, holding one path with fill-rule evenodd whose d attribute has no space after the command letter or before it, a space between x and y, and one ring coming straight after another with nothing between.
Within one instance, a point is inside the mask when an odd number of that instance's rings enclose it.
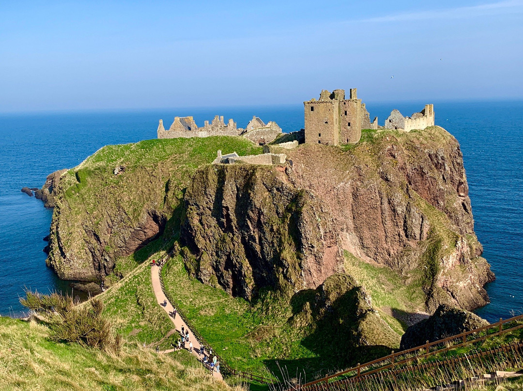
<instances>
[{"instance_id":1,"label":"yellowish-green grass slope in the lower left foreground, below the bush","mask_svg":"<svg viewBox=\"0 0 523 391\"><path fill-rule=\"evenodd\" d=\"M215 381L186 351L167 356L127 344L119 354L108 354L48 337L46 326L0 318L0 389L231 389Z\"/></svg>"}]
</instances>

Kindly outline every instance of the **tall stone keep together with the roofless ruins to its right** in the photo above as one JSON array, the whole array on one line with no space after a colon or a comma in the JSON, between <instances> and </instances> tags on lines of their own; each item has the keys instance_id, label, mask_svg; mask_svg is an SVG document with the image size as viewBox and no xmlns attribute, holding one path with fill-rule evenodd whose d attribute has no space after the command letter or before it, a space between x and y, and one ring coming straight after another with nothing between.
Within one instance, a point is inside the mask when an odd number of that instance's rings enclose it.
<instances>
[{"instance_id":1,"label":"tall stone keep together with the roofless ruins to its right","mask_svg":"<svg viewBox=\"0 0 523 391\"><path fill-rule=\"evenodd\" d=\"M425 105L421 112L403 117L399 110L392 110L384 126L378 126L378 117L370 122L365 103L357 98L356 88L351 88L349 99L345 90L332 93L322 90L320 99L303 102L305 110L305 143L338 145L354 144L361 138L362 129L397 129L411 131L434 126L434 105Z\"/></svg>"}]
</instances>

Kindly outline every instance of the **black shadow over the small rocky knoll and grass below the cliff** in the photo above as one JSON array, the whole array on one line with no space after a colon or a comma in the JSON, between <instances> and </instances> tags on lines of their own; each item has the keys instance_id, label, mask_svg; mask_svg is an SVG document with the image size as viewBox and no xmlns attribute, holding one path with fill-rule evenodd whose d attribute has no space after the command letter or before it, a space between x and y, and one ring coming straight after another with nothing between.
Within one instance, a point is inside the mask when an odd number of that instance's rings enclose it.
<instances>
[{"instance_id":1,"label":"black shadow over the small rocky knoll and grass below the cliff","mask_svg":"<svg viewBox=\"0 0 523 391\"><path fill-rule=\"evenodd\" d=\"M318 303L316 290L303 290L291 298L293 316L289 322L310 332L300 344L316 355L314 358L295 360L265 360L269 371L281 377L281 370L290 378L303 373L306 381L327 374L343 371L357 363L364 363L390 354L384 345L365 346L366 336L361 331L361 321L368 316L359 306L358 287L340 295L334 302Z\"/></svg>"}]
</instances>

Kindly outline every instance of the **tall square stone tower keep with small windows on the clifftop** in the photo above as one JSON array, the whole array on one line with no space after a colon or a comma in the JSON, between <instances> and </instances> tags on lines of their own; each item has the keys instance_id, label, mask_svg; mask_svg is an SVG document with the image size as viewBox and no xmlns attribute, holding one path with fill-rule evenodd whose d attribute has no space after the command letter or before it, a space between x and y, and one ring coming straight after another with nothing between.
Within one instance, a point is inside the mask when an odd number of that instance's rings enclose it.
<instances>
[{"instance_id":1,"label":"tall square stone tower keep with small windows on the clifftop","mask_svg":"<svg viewBox=\"0 0 523 391\"><path fill-rule=\"evenodd\" d=\"M322 90L320 99L303 102L305 109L305 142L324 145L357 143L362 128L377 129L378 121L369 122L365 104L351 88L349 99L345 90L335 89L332 94Z\"/></svg>"}]
</instances>

